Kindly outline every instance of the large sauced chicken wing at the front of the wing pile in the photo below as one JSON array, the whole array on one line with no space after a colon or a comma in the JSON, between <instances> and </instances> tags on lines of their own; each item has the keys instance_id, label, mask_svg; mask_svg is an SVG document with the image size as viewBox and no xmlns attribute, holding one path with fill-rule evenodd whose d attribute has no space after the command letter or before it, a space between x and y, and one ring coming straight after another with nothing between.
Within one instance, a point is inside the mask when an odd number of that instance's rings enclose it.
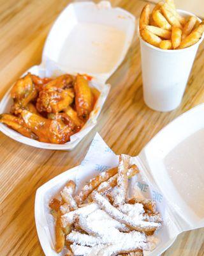
<instances>
[{"instance_id":1,"label":"large sauced chicken wing at the front of the wing pile","mask_svg":"<svg viewBox=\"0 0 204 256\"><path fill-rule=\"evenodd\" d=\"M71 128L61 120L49 120L27 110L20 113L25 124L42 142L62 144L70 140Z\"/></svg>"}]
</instances>

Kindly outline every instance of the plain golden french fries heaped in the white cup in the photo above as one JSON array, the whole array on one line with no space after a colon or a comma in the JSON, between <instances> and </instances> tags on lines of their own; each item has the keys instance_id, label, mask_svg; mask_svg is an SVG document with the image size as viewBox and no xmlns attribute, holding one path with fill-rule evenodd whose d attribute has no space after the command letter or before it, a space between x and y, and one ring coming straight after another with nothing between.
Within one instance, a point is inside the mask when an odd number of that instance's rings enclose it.
<instances>
[{"instance_id":1,"label":"plain golden french fries heaped in the white cup","mask_svg":"<svg viewBox=\"0 0 204 256\"><path fill-rule=\"evenodd\" d=\"M140 35L143 40L161 49L184 49L196 44L203 35L204 22L195 16L180 16L173 0L160 1L152 13L146 4L140 15Z\"/></svg>"}]
</instances>

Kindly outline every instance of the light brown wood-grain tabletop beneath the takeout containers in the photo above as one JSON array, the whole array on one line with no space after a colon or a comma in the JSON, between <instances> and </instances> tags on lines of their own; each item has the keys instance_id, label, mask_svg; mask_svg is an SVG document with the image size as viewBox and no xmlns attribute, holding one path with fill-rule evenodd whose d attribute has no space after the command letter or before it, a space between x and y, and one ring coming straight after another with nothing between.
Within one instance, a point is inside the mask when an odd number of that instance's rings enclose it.
<instances>
[{"instance_id":1,"label":"light brown wood-grain tabletop beneath the takeout containers","mask_svg":"<svg viewBox=\"0 0 204 256\"><path fill-rule=\"evenodd\" d=\"M179 0L177 0L178 2ZM138 17L147 1L112 0ZM41 52L50 26L69 0L0 0L0 83L2 98L11 84ZM0 133L0 255L44 255L34 223L36 189L84 158L98 131L117 154L136 156L145 144L175 117L204 101L204 44L200 45L182 104L159 113L143 102L138 38L109 79L110 94L98 125L71 152L22 145ZM185 65L185 63L184 63ZM180 70L182 72L182 70ZM163 255L204 255L204 228L181 234Z\"/></svg>"}]
</instances>

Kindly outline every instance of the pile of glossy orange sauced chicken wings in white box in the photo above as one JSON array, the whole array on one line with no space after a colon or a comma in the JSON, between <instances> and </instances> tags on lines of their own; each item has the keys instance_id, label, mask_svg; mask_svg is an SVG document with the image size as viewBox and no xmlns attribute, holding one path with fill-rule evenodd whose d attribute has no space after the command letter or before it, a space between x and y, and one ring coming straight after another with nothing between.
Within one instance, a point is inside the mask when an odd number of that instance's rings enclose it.
<instances>
[{"instance_id":1,"label":"pile of glossy orange sauced chicken wings in white box","mask_svg":"<svg viewBox=\"0 0 204 256\"><path fill-rule=\"evenodd\" d=\"M10 114L0 122L25 137L63 144L82 129L98 99L85 76L65 74L54 79L31 73L11 89Z\"/></svg>"}]
</instances>

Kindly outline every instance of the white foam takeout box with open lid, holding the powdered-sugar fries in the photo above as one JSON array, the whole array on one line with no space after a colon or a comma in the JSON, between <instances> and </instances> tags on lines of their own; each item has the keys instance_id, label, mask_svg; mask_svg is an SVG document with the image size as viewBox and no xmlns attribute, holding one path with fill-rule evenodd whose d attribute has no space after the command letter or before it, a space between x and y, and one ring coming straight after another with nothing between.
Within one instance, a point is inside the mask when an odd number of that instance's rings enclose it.
<instances>
[{"instance_id":1,"label":"white foam takeout box with open lid, holding the powdered-sugar fries","mask_svg":"<svg viewBox=\"0 0 204 256\"><path fill-rule=\"evenodd\" d=\"M159 238L157 248L145 255L160 255L181 232L204 227L203 114L204 104L187 111L164 127L138 156L131 159L140 173L131 179L129 192L135 194L136 191L155 200L164 221L163 228L156 234ZM48 207L50 198L59 193L69 179L75 180L80 189L91 177L117 164L118 156L96 134L80 166L58 175L37 190L35 220L45 255L58 255L53 249L55 237L54 220Z\"/></svg>"}]
</instances>

